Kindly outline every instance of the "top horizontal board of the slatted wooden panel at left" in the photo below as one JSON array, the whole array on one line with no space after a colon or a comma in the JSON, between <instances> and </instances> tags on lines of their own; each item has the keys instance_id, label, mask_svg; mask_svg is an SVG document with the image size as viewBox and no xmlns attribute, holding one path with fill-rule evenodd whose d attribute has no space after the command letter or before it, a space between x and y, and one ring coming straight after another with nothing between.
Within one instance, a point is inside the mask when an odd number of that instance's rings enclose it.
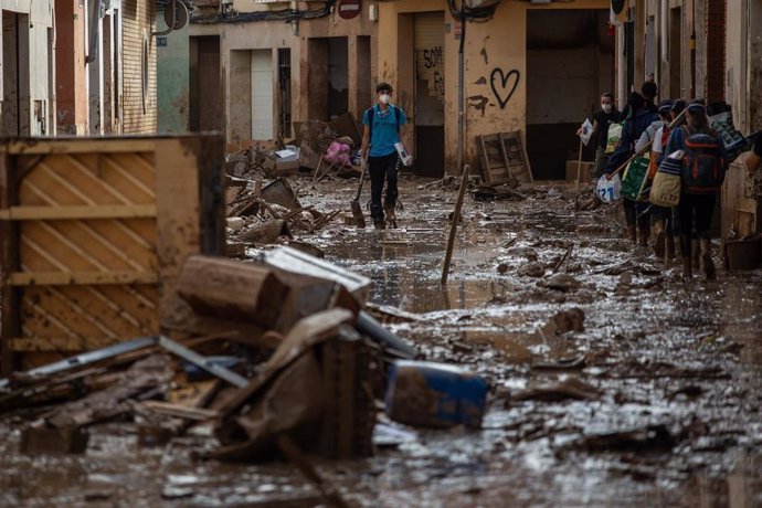
<instances>
[{"instance_id":1,"label":"top horizontal board of the slatted wooden panel at left","mask_svg":"<svg viewBox=\"0 0 762 508\"><path fill-rule=\"evenodd\" d=\"M51 141L13 141L0 150L10 155L47 155L47 154L113 154L156 150L157 140L139 138L82 138L56 139Z\"/></svg>"}]
</instances>

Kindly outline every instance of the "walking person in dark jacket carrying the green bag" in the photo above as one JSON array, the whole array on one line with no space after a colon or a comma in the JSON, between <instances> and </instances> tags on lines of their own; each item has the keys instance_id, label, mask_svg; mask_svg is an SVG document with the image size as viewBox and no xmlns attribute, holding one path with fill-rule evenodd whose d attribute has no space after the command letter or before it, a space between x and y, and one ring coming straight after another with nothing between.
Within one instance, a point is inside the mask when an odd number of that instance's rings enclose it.
<instances>
[{"instance_id":1,"label":"walking person in dark jacket carrying the green bag","mask_svg":"<svg viewBox=\"0 0 762 508\"><path fill-rule=\"evenodd\" d=\"M631 114L625 120L624 127L622 127L622 137L616 150L608 157L608 162L606 163L607 174L616 171L620 166L625 163L635 154L635 142L637 142L648 126L658 119L657 114L650 113L645 108L643 96L637 92L629 94L627 106ZM627 222L627 237L633 243L639 243L644 247L648 246L650 218L646 213L645 203L638 203L635 200L624 198L624 218Z\"/></svg>"}]
</instances>

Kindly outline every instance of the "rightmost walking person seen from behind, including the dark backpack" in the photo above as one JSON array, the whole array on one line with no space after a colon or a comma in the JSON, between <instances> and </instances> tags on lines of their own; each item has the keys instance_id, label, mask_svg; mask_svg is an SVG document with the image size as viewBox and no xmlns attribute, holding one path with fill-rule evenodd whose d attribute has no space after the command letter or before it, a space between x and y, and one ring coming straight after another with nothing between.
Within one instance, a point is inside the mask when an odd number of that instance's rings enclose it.
<instances>
[{"instance_id":1,"label":"rightmost walking person seen from behind, including the dark backpack","mask_svg":"<svg viewBox=\"0 0 762 508\"><path fill-rule=\"evenodd\" d=\"M677 207L680 225L680 255L682 275L692 277L691 253L700 250L700 264L707 281L716 278L711 257L710 225L728 169L722 138L709 126L707 107L700 100L688 105L688 121L669 136L665 154L679 155L680 201ZM695 232L696 237L691 234Z\"/></svg>"}]
</instances>

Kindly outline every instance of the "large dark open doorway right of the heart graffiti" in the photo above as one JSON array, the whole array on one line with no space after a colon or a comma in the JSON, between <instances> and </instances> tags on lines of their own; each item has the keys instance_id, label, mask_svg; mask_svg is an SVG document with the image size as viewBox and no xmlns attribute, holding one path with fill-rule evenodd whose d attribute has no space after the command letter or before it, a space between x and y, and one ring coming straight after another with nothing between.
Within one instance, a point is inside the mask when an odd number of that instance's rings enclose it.
<instances>
[{"instance_id":1,"label":"large dark open doorway right of the heart graffiti","mask_svg":"<svg viewBox=\"0 0 762 508\"><path fill-rule=\"evenodd\" d=\"M576 129L614 89L607 21L606 10L527 12L527 154L536 180L565 178L567 161L578 159ZM591 141L583 159L594 157Z\"/></svg>"}]
</instances>

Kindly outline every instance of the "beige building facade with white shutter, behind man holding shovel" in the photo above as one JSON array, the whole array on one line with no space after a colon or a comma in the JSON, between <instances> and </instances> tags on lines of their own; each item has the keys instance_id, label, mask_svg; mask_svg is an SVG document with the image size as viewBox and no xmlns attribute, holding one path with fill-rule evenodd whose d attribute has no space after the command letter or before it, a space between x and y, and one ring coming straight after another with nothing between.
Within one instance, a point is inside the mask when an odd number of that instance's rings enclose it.
<instances>
[{"instance_id":1,"label":"beige building facade with white shutter, behind man holding shovel","mask_svg":"<svg viewBox=\"0 0 762 508\"><path fill-rule=\"evenodd\" d=\"M369 6L358 2L354 17L345 19L340 2L194 4L191 130L223 130L235 149L288 139L304 120L346 113L358 118L371 104L377 78L377 23L371 17L378 11Z\"/></svg>"}]
</instances>

